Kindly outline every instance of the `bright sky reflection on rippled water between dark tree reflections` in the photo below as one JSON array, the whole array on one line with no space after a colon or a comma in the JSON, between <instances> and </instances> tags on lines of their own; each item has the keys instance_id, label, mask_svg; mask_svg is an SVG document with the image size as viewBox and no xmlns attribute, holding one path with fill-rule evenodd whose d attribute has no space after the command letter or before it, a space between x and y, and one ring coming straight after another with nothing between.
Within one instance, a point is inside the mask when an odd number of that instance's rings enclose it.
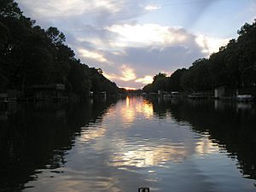
<instances>
[{"instance_id":1,"label":"bright sky reflection on rippled water between dark tree reflections","mask_svg":"<svg viewBox=\"0 0 256 192\"><path fill-rule=\"evenodd\" d=\"M27 183L35 188L24 191L253 191L209 132L193 131L170 111L155 113L157 107L143 97L112 105L81 127L65 165L41 170Z\"/></svg>"}]
</instances>

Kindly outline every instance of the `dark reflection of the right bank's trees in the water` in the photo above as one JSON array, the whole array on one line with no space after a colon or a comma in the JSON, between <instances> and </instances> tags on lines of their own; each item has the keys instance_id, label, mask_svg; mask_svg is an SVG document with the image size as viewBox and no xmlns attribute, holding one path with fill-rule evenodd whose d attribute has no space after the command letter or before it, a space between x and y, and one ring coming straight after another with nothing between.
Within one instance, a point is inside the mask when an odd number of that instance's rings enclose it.
<instances>
[{"instance_id":1,"label":"dark reflection of the right bank's trees in the water","mask_svg":"<svg viewBox=\"0 0 256 192\"><path fill-rule=\"evenodd\" d=\"M256 115L251 104L176 100L154 102L154 113L187 121L194 131L208 132L213 143L239 162L243 177L256 179Z\"/></svg>"}]
</instances>

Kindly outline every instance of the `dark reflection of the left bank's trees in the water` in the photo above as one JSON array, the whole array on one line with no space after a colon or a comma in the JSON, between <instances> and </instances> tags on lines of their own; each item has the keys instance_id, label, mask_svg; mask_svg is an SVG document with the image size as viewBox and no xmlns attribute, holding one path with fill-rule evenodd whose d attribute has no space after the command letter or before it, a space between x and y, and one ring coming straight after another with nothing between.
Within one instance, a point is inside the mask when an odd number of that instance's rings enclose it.
<instances>
[{"instance_id":1,"label":"dark reflection of the left bank's trees in the water","mask_svg":"<svg viewBox=\"0 0 256 192\"><path fill-rule=\"evenodd\" d=\"M101 121L111 103L28 104L1 120L0 191L20 191L37 179L37 170L65 164L81 127Z\"/></svg>"}]
</instances>

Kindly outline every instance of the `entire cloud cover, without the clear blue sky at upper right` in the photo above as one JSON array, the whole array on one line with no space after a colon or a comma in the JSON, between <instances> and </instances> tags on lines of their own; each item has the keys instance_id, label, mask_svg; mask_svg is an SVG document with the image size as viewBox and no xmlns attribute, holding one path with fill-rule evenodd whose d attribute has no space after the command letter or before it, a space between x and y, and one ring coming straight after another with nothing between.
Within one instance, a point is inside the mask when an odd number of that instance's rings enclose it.
<instances>
[{"instance_id":1,"label":"entire cloud cover, without the clear blue sky at upper right","mask_svg":"<svg viewBox=\"0 0 256 192\"><path fill-rule=\"evenodd\" d=\"M140 22L141 16L164 9L148 0L17 2L39 25L57 26L77 58L90 67L101 67L108 79L122 87L140 88L155 73L189 67L226 40L193 34L183 27Z\"/></svg>"}]
</instances>

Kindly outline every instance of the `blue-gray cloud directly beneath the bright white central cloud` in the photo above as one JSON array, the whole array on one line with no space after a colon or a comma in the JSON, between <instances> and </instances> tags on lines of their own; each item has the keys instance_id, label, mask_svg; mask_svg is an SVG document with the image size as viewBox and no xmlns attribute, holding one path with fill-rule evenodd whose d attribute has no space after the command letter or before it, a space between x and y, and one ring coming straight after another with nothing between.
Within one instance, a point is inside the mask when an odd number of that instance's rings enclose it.
<instances>
[{"instance_id":1,"label":"blue-gray cloud directly beneath the bright white central cloud","mask_svg":"<svg viewBox=\"0 0 256 192\"><path fill-rule=\"evenodd\" d=\"M183 29L176 31L186 37L182 44L170 44L166 47L154 45L144 47L125 47L124 55L106 53L108 60L125 63L134 68L138 74L147 75L161 70L173 72L177 67L189 67L195 59L206 56L201 46L196 43L196 36ZM145 70L145 68L147 70Z\"/></svg>"}]
</instances>

